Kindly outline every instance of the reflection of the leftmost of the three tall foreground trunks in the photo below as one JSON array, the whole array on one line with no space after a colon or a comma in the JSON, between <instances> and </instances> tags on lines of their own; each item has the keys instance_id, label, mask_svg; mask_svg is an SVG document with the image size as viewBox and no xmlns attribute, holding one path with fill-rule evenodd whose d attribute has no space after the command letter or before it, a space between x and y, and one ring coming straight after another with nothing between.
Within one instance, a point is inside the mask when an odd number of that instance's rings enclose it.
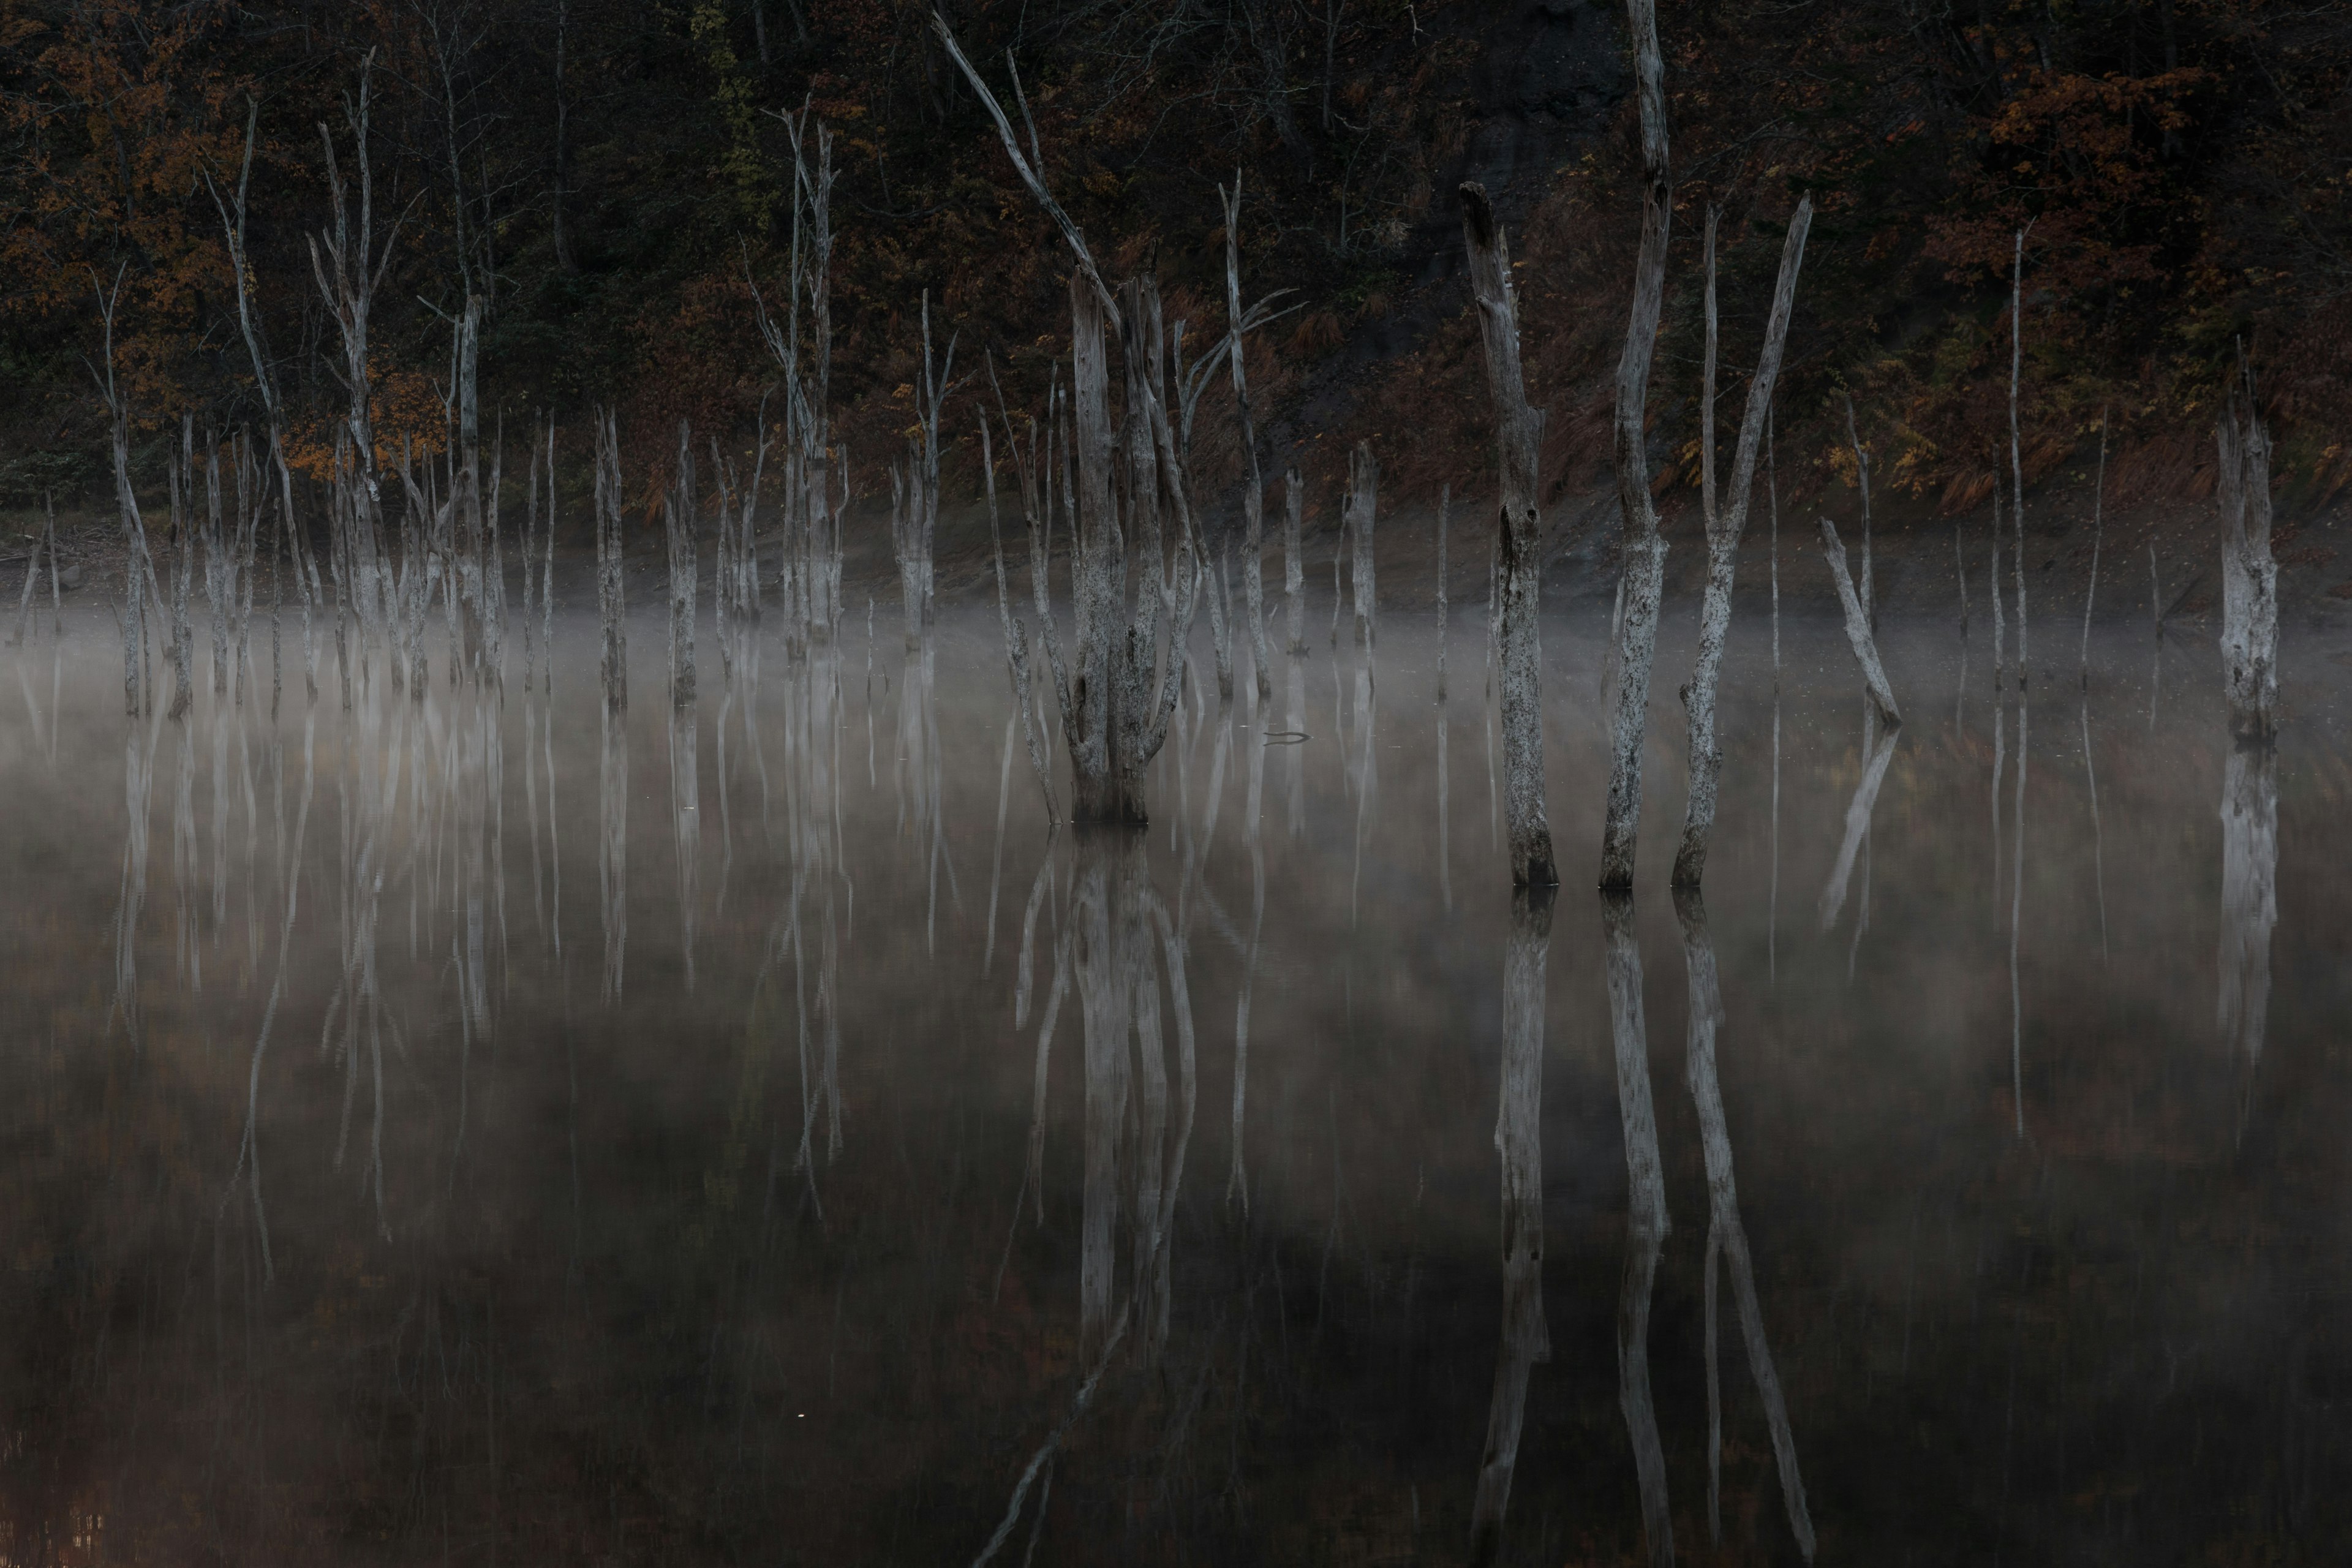
<instances>
[{"instance_id":1,"label":"reflection of the leftmost of the three tall foreground trunks","mask_svg":"<svg viewBox=\"0 0 2352 1568\"><path fill-rule=\"evenodd\" d=\"M1503 1552L1526 1375L1536 1361L1552 1359L1543 1324L1543 961L1552 938L1552 896L1550 886L1512 896L1510 945L1503 950L1503 1084L1494 1121L1503 1164L1503 1335L1477 1500L1470 1505L1472 1563L1494 1563Z\"/></svg>"}]
</instances>

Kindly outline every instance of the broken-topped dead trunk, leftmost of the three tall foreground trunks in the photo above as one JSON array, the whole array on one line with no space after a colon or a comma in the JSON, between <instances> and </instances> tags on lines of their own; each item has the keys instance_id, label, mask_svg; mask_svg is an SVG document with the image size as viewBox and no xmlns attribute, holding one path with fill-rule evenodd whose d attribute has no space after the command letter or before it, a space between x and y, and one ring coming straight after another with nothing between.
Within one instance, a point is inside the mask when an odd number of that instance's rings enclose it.
<instances>
[{"instance_id":1,"label":"broken-topped dead trunk, leftmost of the three tall foreground trunks","mask_svg":"<svg viewBox=\"0 0 2352 1568\"><path fill-rule=\"evenodd\" d=\"M1519 371L1519 315L1510 292L1510 254L1494 219L1486 188L1468 183L1463 195L1463 244L1470 252L1470 289L1477 296L1479 336L1486 343L1486 388L1494 397L1496 465L1501 503L1496 512L1496 571L1501 576L1503 663L1503 773L1510 780L1510 879L1517 886L1555 886L1552 825L1543 813L1543 517L1536 510L1536 451L1543 414L1526 407ZM1649 491L1644 491L1646 503Z\"/></svg>"}]
</instances>

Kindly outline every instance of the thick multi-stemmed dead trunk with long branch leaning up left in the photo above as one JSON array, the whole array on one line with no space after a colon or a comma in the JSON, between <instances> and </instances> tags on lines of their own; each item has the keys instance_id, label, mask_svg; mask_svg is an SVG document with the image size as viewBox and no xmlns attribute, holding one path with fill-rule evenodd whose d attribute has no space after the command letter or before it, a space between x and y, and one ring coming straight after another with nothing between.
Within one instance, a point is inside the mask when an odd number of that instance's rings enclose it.
<instances>
[{"instance_id":1,"label":"thick multi-stemmed dead trunk with long branch leaning up left","mask_svg":"<svg viewBox=\"0 0 2352 1568\"><path fill-rule=\"evenodd\" d=\"M1202 588L1200 527L1176 456L1176 430L1167 414L1167 388L1152 374L1162 339L1160 294L1148 280L1129 282L1122 296L1103 284L1077 223L1061 209L1044 176L1021 153L1011 120L981 80L946 19L934 12L948 54L995 120L1004 153L1030 195L1070 244L1070 491L1075 527L1070 550L1073 649L1065 668L1047 597L1040 590L1040 630L1054 663L1054 686L1063 693L1063 736L1070 748L1070 813L1084 823L1143 823L1143 771L1167 741L1169 719L1183 693L1185 637ZM1018 75L1014 92L1018 94ZM1035 127L1030 153L1037 150ZM1150 437L1150 451L1129 442L1122 454L1110 423L1110 355L1105 336L1120 334L1127 360L1127 428ZM1127 515L1117 496L1117 470L1127 468ZM1148 498L1148 505L1143 501ZM1174 515L1174 559L1162 557L1160 505ZM1129 541L1143 557L1129 607ZM1044 583L1042 529L1030 529L1030 571ZM1164 623L1164 637L1162 637Z\"/></svg>"}]
</instances>

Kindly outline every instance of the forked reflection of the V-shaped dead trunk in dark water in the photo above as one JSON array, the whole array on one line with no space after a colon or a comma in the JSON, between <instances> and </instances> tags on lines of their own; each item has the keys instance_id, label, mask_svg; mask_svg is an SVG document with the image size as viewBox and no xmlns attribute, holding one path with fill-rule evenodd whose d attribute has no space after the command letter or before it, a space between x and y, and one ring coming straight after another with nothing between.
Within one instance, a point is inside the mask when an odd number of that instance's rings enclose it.
<instances>
[{"instance_id":1,"label":"forked reflection of the V-shaped dead trunk in dark water","mask_svg":"<svg viewBox=\"0 0 2352 1568\"><path fill-rule=\"evenodd\" d=\"M1813 1561L1813 1519L1804 1507L1804 1476L1797 1472L1797 1441L1788 1429L1788 1401L1773 1371L1771 1342L1764 1338L1764 1312L1757 1305L1755 1267L1748 1258L1748 1229L1740 1222L1740 1194L1731 1175L1731 1131L1724 1124L1724 1093L1715 1077L1715 1032L1724 1020L1724 997L1715 976L1715 943L1708 936L1708 905L1698 889L1675 893L1675 917L1682 922L1682 959L1691 980L1689 1081L1698 1105L1698 1138L1708 1157L1708 1521L1722 1544L1722 1408L1715 1380L1715 1258L1731 1265L1731 1295L1740 1309L1740 1338L1748 1342L1748 1371L1771 1427L1773 1458L1780 1465L1780 1500L1788 1526Z\"/></svg>"}]
</instances>

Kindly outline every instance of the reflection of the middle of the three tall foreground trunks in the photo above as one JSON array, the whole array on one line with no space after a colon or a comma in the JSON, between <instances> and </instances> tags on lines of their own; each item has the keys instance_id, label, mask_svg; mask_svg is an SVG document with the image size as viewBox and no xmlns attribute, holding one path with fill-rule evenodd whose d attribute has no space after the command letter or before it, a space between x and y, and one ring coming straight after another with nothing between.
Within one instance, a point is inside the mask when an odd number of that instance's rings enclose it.
<instances>
[{"instance_id":1,"label":"reflection of the middle of the three tall foreground trunks","mask_svg":"<svg viewBox=\"0 0 2352 1568\"><path fill-rule=\"evenodd\" d=\"M1658 1114L1649 1098L1642 945L1632 929L1630 893L1602 893L1602 926L1609 938L1609 1037L1616 1046L1628 1180L1625 1286L1618 1295L1618 1406L1625 1410L1635 1479L1642 1486L1649 1561L1672 1563L1675 1521L1665 1500L1665 1450L1658 1446L1658 1410L1649 1396L1649 1295L1670 1225L1665 1173L1658 1166Z\"/></svg>"}]
</instances>

